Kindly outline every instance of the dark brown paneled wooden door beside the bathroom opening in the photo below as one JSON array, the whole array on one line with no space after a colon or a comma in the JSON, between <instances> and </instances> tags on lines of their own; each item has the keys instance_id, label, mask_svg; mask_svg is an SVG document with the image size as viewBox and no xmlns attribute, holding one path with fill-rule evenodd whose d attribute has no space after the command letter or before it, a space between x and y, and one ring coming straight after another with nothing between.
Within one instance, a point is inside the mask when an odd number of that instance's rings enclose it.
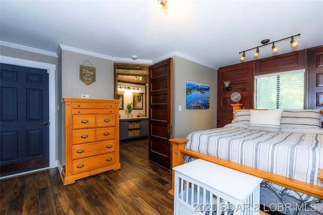
<instances>
[{"instance_id":1,"label":"dark brown paneled wooden door beside the bathroom opening","mask_svg":"<svg viewBox=\"0 0 323 215\"><path fill-rule=\"evenodd\" d=\"M149 152L148 159L171 170L173 138L173 59L149 67Z\"/></svg>"}]
</instances>

